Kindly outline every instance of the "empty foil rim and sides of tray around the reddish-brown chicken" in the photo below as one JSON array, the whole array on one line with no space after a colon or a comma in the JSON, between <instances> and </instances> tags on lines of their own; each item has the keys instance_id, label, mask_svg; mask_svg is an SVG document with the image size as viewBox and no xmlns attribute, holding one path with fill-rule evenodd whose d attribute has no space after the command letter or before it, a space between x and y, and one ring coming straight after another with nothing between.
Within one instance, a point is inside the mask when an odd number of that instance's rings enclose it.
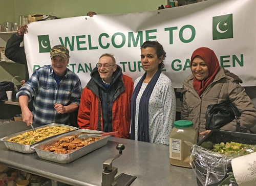
<instances>
[{"instance_id":1,"label":"empty foil rim and sides of tray around the reddish-brown chicken","mask_svg":"<svg viewBox=\"0 0 256 186\"><path fill-rule=\"evenodd\" d=\"M76 159L78 159L79 157L86 155L96 149L99 149L101 147L103 147L104 145L106 145L106 143L108 143L108 139L110 136L102 136L101 139L99 139L98 141L95 141L93 143L90 143L86 146L83 146L79 149L76 149L70 153L67 154L58 154L55 152L51 152L51 151L46 151L43 150L45 147L47 146L51 146L57 142L59 142L59 140L65 136L75 136L78 135L79 132L89 132L89 133L95 133L95 132L99 132L100 131L96 131L96 130L89 130L89 129L78 129L72 132L69 132L67 134L62 134L59 135L57 137L48 139L47 141L38 143L36 145L33 145L32 148L35 149L37 155L41 158L41 159L46 159L46 160L50 160L50 161L54 161L57 162L59 164L68 164L71 161L74 161Z\"/></svg>"}]
</instances>

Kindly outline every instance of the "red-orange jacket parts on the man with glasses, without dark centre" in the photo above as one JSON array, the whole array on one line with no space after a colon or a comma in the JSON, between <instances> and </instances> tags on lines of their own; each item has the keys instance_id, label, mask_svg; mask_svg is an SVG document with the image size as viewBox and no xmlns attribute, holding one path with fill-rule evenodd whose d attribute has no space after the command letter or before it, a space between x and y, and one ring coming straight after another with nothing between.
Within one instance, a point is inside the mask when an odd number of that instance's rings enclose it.
<instances>
[{"instance_id":1,"label":"red-orange jacket parts on the man with glasses, without dark centre","mask_svg":"<svg viewBox=\"0 0 256 186\"><path fill-rule=\"evenodd\" d=\"M91 80L90 86L87 85L82 92L77 123L79 128L102 131L102 110L99 97L96 95L98 87ZM132 78L122 75L122 84L118 89L124 90L115 91L112 103L112 129L119 132L115 137L130 138L133 85Z\"/></svg>"}]
</instances>

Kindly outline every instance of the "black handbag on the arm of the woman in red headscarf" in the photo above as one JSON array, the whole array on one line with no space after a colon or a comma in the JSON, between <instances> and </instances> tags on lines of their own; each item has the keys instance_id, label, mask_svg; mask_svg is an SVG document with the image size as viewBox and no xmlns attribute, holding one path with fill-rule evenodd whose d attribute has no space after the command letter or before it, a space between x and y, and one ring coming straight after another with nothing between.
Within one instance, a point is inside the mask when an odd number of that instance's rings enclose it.
<instances>
[{"instance_id":1,"label":"black handbag on the arm of the woman in red headscarf","mask_svg":"<svg viewBox=\"0 0 256 186\"><path fill-rule=\"evenodd\" d=\"M241 131L240 112L230 101L209 105L205 114L205 129L220 129L224 125L236 119L237 132Z\"/></svg>"}]
</instances>

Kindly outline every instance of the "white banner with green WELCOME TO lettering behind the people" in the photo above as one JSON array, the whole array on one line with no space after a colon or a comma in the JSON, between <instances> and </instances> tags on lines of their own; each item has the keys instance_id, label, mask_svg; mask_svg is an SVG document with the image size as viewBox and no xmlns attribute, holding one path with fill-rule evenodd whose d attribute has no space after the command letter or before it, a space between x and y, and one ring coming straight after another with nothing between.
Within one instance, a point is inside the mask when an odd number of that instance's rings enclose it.
<instances>
[{"instance_id":1,"label":"white banner with green WELCOME TO lettering behind the people","mask_svg":"<svg viewBox=\"0 0 256 186\"><path fill-rule=\"evenodd\" d=\"M64 44L70 50L68 68L82 87L103 53L115 55L123 74L135 80L144 70L140 45L158 40L167 53L164 74L175 88L191 74L191 54L199 47L215 51L220 65L255 86L256 1L208 0L152 12L81 16L33 22L25 35L29 74L51 64L50 49Z\"/></svg>"}]
</instances>

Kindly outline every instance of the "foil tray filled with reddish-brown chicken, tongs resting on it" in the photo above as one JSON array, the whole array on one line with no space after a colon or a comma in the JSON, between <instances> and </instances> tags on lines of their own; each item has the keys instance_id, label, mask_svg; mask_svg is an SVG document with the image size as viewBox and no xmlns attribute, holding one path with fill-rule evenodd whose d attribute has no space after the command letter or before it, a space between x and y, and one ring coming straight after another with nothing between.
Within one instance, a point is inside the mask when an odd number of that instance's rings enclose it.
<instances>
[{"instance_id":1,"label":"foil tray filled with reddish-brown chicken, tongs resting on it","mask_svg":"<svg viewBox=\"0 0 256 186\"><path fill-rule=\"evenodd\" d=\"M80 132L101 133L96 130L78 129L33 145L32 148L41 159L68 164L108 143L109 136L79 139L77 136Z\"/></svg>"}]
</instances>

